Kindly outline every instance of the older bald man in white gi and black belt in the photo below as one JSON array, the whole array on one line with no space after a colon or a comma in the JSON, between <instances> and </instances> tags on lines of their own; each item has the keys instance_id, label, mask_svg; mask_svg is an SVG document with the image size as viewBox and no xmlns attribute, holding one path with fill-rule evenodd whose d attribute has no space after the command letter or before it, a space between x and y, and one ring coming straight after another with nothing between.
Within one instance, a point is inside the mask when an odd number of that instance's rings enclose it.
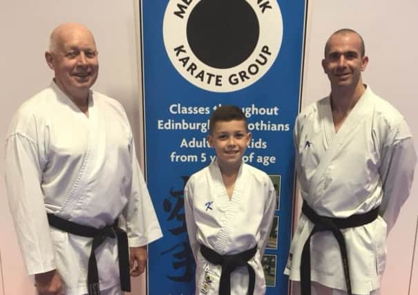
<instances>
[{"instance_id":1,"label":"older bald man in white gi and black belt","mask_svg":"<svg viewBox=\"0 0 418 295\"><path fill-rule=\"evenodd\" d=\"M122 294L144 272L146 244L162 236L131 127L119 102L91 91L90 30L58 26L45 57L53 82L20 106L6 139L23 260L39 294Z\"/></svg>"}]
</instances>

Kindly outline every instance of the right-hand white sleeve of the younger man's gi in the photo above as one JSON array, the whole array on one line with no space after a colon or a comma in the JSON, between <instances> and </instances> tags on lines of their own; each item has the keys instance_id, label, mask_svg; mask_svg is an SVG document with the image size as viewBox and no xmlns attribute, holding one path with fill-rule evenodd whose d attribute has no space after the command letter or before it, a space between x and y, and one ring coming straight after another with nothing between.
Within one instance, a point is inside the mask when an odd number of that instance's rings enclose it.
<instances>
[{"instance_id":1,"label":"right-hand white sleeve of the younger man's gi","mask_svg":"<svg viewBox=\"0 0 418 295\"><path fill-rule=\"evenodd\" d=\"M383 145L380 175L383 200L380 214L386 221L388 233L395 225L401 206L410 194L417 155L414 141L406 122L392 131L390 141Z\"/></svg>"}]
</instances>

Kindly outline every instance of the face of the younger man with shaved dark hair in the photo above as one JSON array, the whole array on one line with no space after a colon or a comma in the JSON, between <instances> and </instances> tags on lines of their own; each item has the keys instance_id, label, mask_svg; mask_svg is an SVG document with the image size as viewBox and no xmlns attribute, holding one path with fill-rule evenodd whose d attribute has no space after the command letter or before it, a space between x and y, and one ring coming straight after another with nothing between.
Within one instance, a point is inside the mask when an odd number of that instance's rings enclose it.
<instances>
[{"instance_id":1,"label":"face of the younger man with shaved dark hair","mask_svg":"<svg viewBox=\"0 0 418 295\"><path fill-rule=\"evenodd\" d=\"M361 72L367 64L368 57L361 56L359 36L349 32L330 38L322 66L332 88L356 87L361 82Z\"/></svg>"}]
</instances>

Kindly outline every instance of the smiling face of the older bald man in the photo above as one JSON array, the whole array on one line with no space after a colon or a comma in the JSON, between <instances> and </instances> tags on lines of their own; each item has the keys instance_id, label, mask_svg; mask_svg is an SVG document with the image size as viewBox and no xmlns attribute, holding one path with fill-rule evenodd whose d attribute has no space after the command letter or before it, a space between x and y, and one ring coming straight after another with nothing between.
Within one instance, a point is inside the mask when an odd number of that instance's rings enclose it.
<instances>
[{"instance_id":1,"label":"smiling face of the older bald man","mask_svg":"<svg viewBox=\"0 0 418 295\"><path fill-rule=\"evenodd\" d=\"M46 60L55 72L55 83L66 95L86 98L99 69L95 41L88 30L63 30L55 50L46 53Z\"/></svg>"}]
</instances>

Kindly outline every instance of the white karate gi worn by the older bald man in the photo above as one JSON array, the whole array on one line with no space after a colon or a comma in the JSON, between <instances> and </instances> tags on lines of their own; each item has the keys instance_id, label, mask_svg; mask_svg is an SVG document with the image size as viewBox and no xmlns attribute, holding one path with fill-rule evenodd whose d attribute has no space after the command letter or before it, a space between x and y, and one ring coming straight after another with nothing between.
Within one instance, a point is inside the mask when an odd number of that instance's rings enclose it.
<instances>
[{"instance_id":1,"label":"white karate gi worn by the older bald man","mask_svg":"<svg viewBox=\"0 0 418 295\"><path fill-rule=\"evenodd\" d=\"M6 185L28 274L58 269L66 295L87 292L93 239L49 227L46 212L91 227L122 213L130 247L162 236L124 109L95 91L88 117L54 82L22 104L6 140ZM100 288L120 284L116 239L96 258Z\"/></svg>"}]
</instances>

